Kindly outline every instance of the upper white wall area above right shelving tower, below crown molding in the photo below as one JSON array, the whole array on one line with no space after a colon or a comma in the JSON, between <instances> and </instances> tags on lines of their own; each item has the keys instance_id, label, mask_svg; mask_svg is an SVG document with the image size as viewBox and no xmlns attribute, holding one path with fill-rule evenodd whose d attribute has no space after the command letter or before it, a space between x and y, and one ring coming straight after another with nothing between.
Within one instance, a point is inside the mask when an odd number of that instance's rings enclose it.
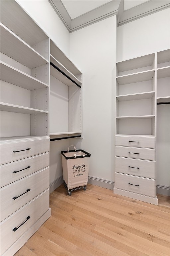
<instances>
[{"instance_id":1,"label":"upper white wall area above right shelving tower, below crown molding","mask_svg":"<svg viewBox=\"0 0 170 256\"><path fill-rule=\"evenodd\" d=\"M170 47L170 9L118 27L117 61Z\"/></svg>"}]
</instances>

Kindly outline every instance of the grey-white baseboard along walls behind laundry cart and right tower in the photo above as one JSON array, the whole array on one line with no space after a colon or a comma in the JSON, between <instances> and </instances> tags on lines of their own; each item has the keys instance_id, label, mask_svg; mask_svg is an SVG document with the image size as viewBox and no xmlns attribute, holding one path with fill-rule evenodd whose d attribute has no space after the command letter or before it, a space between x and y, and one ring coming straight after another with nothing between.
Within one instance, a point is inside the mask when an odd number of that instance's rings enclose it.
<instances>
[{"instance_id":1,"label":"grey-white baseboard along walls behind laundry cart and right tower","mask_svg":"<svg viewBox=\"0 0 170 256\"><path fill-rule=\"evenodd\" d=\"M54 182L52 182L49 185L49 193L51 193L56 188L58 188L63 182L64 182L63 176L60 176L58 179L56 179ZM102 188L112 189L112 190L115 185L114 181L105 180L105 179L101 179L101 178L97 178L97 177L93 177L93 176L88 176L88 183L95 185L95 186L102 187ZM161 194L161 195L170 196L170 187L157 184L156 185L156 193Z\"/></svg>"}]
</instances>

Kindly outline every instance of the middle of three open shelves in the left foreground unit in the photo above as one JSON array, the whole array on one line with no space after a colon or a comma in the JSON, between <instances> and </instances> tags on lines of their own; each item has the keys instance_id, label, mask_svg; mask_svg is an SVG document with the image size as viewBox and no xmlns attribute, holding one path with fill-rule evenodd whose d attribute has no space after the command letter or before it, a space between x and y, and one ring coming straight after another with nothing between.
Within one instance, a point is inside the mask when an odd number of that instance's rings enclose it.
<instances>
[{"instance_id":1,"label":"middle of three open shelves in the left foreground unit","mask_svg":"<svg viewBox=\"0 0 170 256\"><path fill-rule=\"evenodd\" d=\"M27 75L26 73L16 68L13 68L12 66L2 61L0 62L0 68L1 68L1 80L5 82L20 86L28 90L48 87L47 84L41 82L40 80L30 75Z\"/></svg>"}]
</instances>

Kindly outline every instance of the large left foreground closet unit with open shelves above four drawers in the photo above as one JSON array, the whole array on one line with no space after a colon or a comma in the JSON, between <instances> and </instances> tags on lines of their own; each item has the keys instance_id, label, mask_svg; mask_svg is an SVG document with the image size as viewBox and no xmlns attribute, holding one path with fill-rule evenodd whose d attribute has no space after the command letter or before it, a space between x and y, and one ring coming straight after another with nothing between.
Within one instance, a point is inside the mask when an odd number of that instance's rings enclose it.
<instances>
[{"instance_id":1,"label":"large left foreground closet unit with open shelves above four drawers","mask_svg":"<svg viewBox=\"0 0 170 256\"><path fill-rule=\"evenodd\" d=\"M49 218L49 38L16 1L1 1L1 255Z\"/></svg>"}]
</instances>

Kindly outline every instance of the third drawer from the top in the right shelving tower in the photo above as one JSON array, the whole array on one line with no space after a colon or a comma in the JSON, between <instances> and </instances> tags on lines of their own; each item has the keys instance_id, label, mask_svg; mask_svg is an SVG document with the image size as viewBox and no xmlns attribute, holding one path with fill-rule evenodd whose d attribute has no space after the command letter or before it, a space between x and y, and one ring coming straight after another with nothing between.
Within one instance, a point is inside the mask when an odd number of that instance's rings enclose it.
<instances>
[{"instance_id":1,"label":"third drawer from the top in the right shelving tower","mask_svg":"<svg viewBox=\"0 0 170 256\"><path fill-rule=\"evenodd\" d=\"M116 172L155 179L155 161L116 157Z\"/></svg>"}]
</instances>

